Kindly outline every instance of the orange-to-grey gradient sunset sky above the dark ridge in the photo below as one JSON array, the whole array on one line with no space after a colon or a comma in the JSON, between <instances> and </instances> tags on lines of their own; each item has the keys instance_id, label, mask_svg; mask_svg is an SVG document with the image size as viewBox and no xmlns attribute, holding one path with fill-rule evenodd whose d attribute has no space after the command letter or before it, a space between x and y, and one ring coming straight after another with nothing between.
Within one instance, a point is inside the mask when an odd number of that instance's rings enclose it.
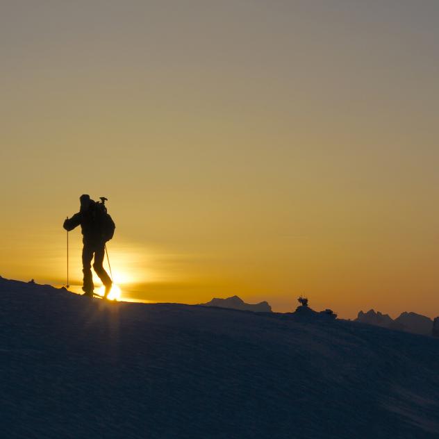
<instances>
[{"instance_id":1,"label":"orange-to-grey gradient sunset sky above the dark ridge","mask_svg":"<svg viewBox=\"0 0 439 439\"><path fill-rule=\"evenodd\" d=\"M438 19L437 0L3 0L0 274L65 283L88 193L126 297L439 315Z\"/></svg>"}]
</instances>

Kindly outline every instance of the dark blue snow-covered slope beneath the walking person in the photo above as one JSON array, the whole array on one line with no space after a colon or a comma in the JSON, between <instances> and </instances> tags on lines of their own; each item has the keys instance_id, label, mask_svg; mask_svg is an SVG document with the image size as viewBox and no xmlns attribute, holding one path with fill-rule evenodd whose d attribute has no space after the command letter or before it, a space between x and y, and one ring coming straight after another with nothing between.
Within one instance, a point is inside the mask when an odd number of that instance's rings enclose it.
<instances>
[{"instance_id":1,"label":"dark blue snow-covered slope beneath the walking person","mask_svg":"<svg viewBox=\"0 0 439 439\"><path fill-rule=\"evenodd\" d=\"M439 340L0 279L4 438L439 438Z\"/></svg>"}]
</instances>

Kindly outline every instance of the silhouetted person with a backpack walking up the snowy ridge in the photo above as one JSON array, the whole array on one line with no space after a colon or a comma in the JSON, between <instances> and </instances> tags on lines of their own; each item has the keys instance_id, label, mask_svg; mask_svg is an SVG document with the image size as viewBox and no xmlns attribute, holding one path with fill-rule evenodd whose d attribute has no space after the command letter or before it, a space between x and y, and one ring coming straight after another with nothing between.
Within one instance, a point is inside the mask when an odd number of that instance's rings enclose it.
<instances>
[{"instance_id":1,"label":"silhouetted person with a backpack walking up the snowy ridge","mask_svg":"<svg viewBox=\"0 0 439 439\"><path fill-rule=\"evenodd\" d=\"M105 256L105 244L113 238L115 223L108 215L104 206L105 198L102 202L96 202L90 199L88 194L79 197L81 208L71 218L65 220L63 227L67 231L75 229L81 225L83 234L83 292L85 296L93 297L94 285L92 278L92 259L94 256L93 268L96 274L105 285L104 297L108 296L113 282L110 276L103 268L103 257Z\"/></svg>"}]
</instances>

